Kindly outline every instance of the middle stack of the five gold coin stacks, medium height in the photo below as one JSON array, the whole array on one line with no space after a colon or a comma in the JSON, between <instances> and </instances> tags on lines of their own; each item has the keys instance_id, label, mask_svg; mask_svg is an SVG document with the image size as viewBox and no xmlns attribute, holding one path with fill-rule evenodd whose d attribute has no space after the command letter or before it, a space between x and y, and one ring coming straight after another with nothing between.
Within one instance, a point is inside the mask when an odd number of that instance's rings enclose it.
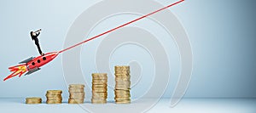
<instances>
[{"instance_id":1,"label":"middle stack of the five gold coin stacks, medium height","mask_svg":"<svg viewBox=\"0 0 256 113\"><path fill-rule=\"evenodd\" d=\"M68 88L69 99L68 104L84 103L84 84L70 84Z\"/></svg>"}]
</instances>

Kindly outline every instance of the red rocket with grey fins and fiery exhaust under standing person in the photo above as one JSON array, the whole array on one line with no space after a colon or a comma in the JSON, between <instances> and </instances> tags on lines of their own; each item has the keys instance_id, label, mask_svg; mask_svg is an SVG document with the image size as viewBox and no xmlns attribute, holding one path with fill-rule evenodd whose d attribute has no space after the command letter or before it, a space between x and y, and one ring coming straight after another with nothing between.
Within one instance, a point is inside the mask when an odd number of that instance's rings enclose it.
<instances>
[{"instance_id":1,"label":"red rocket with grey fins and fiery exhaust under standing person","mask_svg":"<svg viewBox=\"0 0 256 113\"><path fill-rule=\"evenodd\" d=\"M26 73L25 75L30 75L35 71L39 71L41 66L48 64L51 60L55 59L58 54L59 52L52 52L44 54L44 56L25 59L19 63L20 65L9 67L9 71L12 71L13 73L4 78L3 81L6 81L11 77L22 76L24 73Z\"/></svg>"}]
</instances>

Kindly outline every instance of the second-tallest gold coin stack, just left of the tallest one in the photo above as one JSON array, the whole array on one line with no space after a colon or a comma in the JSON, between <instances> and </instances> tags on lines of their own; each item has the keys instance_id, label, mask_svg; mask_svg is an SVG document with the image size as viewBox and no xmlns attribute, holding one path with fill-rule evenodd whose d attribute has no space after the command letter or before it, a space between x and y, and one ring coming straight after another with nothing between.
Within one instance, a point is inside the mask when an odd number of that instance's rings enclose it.
<instances>
[{"instance_id":1,"label":"second-tallest gold coin stack, just left of the tallest one","mask_svg":"<svg viewBox=\"0 0 256 113\"><path fill-rule=\"evenodd\" d=\"M92 104L106 104L108 97L107 73L93 73L92 76Z\"/></svg>"}]
</instances>

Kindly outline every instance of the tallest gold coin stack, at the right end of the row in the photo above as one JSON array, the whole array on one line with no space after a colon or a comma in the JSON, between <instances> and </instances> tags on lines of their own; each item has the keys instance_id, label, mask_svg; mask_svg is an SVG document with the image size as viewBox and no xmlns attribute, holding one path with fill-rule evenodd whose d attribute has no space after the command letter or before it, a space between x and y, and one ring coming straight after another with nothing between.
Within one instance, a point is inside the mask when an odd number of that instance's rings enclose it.
<instances>
[{"instance_id":1,"label":"tallest gold coin stack, at the right end of the row","mask_svg":"<svg viewBox=\"0 0 256 113\"><path fill-rule=\"evenodd\" d=\"M116 104L130 104L130 66L114 66L115 75L115 103Z\"/></svg>"}]
</instances>

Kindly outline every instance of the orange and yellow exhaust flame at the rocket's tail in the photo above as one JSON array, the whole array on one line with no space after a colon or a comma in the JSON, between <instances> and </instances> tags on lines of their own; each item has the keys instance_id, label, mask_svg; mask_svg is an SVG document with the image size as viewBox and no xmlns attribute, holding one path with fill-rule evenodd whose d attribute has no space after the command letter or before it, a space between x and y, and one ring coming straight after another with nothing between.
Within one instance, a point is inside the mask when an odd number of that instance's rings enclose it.
<instances>
[{"instance_id":1,"label":"orange and yellow exhaust flame at the rocket's tail","mask_svg":"<svg viewBox=\"0 0 256 113\"><path fill-rule=\"evenodd\" d=\"M9 78L15 77L15 76L22 76L27 70L26 70L26 64L24 65L15 65L15 66L11 66L9 67L9 71L13 72L12 74L10 74L9 76L7 76L6 78L3 79L3 81L8 80Z\"/></svg>"}]
</instances>

